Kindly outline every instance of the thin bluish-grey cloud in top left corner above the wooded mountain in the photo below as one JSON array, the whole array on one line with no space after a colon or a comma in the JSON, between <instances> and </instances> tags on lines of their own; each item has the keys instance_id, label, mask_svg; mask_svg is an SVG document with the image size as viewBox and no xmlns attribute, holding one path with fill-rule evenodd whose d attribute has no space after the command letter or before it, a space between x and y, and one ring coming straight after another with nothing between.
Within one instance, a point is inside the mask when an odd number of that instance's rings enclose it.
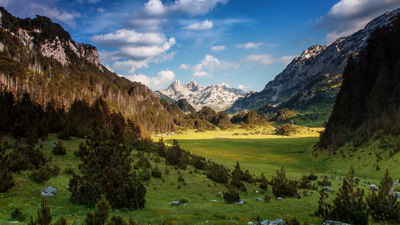
<instances>
[{"instance_id":1,"label":"thin bluish-grey cloud in top left corner above the wooded mountain","mask_svg":"<svg viewBox=\"0 0 400 225\"><path fill-rule=\"evenodd\" d=\"M75 26L75 19L81 17L81 14L74 11L66 11L55 7L54 1L41 0L0 0L0 5L12 13L17 14L19 17L34 17L35 15L46 16L53 21L68 25Z\"/></svg>"}]
</instances>

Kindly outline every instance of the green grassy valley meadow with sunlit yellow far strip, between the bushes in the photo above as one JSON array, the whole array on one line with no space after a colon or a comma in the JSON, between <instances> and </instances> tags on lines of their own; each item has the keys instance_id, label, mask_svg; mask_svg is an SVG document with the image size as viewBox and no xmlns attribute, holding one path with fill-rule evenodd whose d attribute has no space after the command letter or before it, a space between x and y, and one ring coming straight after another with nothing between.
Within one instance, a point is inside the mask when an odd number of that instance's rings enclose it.
<instances>
[{"instance_id":1,"label":"green grassy valley meadow with sunlit yellow far strip, between the bushes","mask_svg":"<svg viewBox=\"0 0 400 225\"><path fill-rule=\"evenodd\" d=\"M341 155L332 157L328 154L320 155L317 158L313 157L312 146L318 139L316 131L321 128L304 128L290 137L274 135L268 129L268 127L259 127L253 130L234 129L204 133L188 130L182 134L164 138L168 143L171 143L174 138L178 139L182 147L218 163L223 163L230 168L238 161L242 170L248 169L250 173L256 175L263 172L267 178L272 177L282 165L286 168L287 175L293 179L298 179L302 173L308 173L310 169L313 169L319 176L332 175L331 181L335 190L338 190L341 184L340 176L347 174L351 164L355 165L357 176L372 178L373 183L377 182L374 179L381 178L386 166L389 167L393 178L398 178L400 175L400 171L396 167L398 163L395 164L399 158L398 154L386 159L387 153L382 152L382 160L379 163L381 169L376 171L372 166L376 161L375 155L369 155L368 153L373 150L367 148L360 153L362 154L360 160L357 159L358 155L354 154L351 157L350 153L346 151L344 151L344 155L347 155L345 158ZM154 135L153 138L157 140L159 137ZM4 140L14 141L13 138L7 136ZM12 223L10 214L15 207L22 209L27 215L26 220L30 215L36 216L41 202L40 189L49 185L57 189L57 195L48 198L53 218L58 219L63 214L71 224L82 224L88 208L70 203L70 192L66 186L71 176L65 174L63 169L70 164L77 171L80 160L73 155L73 151L84 140L65 141L64 144L68 149L67 155L54 156L51 149L56 140L55 135L50 135L38 146L43 145L42 151L47 157L52 157L52 161L49 162L50 166L58 165L61 168L60 174L44 184L31 181L27 177L29 171L15 175L15 187L7 193L0 194L0 224ZM135 153L136 151L132 152L132 154ZM366 162L370 163L363 167L362 164L366 164ZM112 214L120 214L124 217L131 215L132 218L148 224L247 224L248 221L254 221L257 215L263 219L296 216L298 220L307 221L309 224L322 223L321 218L310 215L317 208L318 194L314 191L310 191L309 196L303 196L300 199L272 199L271 202L265 203L257 202L255 199L265 194L273 196L271 187L263 193L258 186L246 183L247 192L241 192L241 198L245 199L246 203L244 205L228 205L217 196L217 193L224 191L225 187L208 180L204 175L190 174L194 168L189 167L186 171L181 171L185 182L179 182L177 170L170 167L170 173L166 175L164 173L166 166L163 162L152 162L152 164L158 165L162 169L163 176L161 179L151 178L145 183L147 188L145 208L136 211L114 210ZM372 169L374 171L371 171ZM369 186L366 182L370 181L361 180L361 185L366 189ZM256 190L259 193L256 193ZM334 195L330 194L330 196ZM188 198L189 205L170 206L171 201L180 197ZM217 202L210 202L213 199ZM379 223L371 222L370 224Z\"/></svg>"}]
</instances>

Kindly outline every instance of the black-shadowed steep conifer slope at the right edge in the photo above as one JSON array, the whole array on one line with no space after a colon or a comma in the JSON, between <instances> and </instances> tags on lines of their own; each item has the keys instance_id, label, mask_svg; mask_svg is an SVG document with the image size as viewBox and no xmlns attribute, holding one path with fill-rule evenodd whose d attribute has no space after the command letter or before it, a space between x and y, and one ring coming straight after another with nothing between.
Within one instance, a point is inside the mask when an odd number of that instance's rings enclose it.
<instances>
[{"instance_id":1,"label":"black-shadowed steep conifer slope at the right edge","mask_svg":"<svg viewBox=\"0 0 400 225\"><path fill-rule=\"evenodd\" d=\"M333 112L318 145L335 151L374 134L400 132L400 20L377 28L358 57L349 58Z\"/></svg>"}]
</instances>

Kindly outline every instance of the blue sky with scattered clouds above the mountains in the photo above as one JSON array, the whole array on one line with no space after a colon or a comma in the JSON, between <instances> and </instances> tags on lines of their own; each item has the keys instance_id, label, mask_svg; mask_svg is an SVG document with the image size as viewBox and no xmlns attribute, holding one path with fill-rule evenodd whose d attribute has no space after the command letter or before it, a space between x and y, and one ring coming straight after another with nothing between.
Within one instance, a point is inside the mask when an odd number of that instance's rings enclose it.
<instances>
[{"instance_id":1,"label":"blue sky with scattered clouds above the mountains","mask_svg":"<svg viewBox=\"0 0 400 225\"><path fill-rule=\"evenodd\" d=\"M119 76L166 89L175 80L261 91L312 45L362 29L400 0L0 0L47 16L99 50Z\"/></svg>"}]
</instances>

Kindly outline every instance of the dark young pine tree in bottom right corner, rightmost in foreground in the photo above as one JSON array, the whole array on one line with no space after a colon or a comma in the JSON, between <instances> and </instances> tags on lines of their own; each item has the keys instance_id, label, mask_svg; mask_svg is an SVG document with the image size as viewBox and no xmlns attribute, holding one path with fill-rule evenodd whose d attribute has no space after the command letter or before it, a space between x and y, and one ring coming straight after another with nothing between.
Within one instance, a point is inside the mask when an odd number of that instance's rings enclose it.
<instances>
[{"instance_id":1,"label":"dark young pine tree in bottom right corner, rightmost in foreground","mask_svg":"<svg viewBox=\"0 0 400 225\"><path fill-rule=\"evenodd\" d=\"M392 180L386 169L379 183L378 194L372 191L366 199L372 218L390 223L400 222L400 202L392 192Z\"/></svg>"}]
</instances>

